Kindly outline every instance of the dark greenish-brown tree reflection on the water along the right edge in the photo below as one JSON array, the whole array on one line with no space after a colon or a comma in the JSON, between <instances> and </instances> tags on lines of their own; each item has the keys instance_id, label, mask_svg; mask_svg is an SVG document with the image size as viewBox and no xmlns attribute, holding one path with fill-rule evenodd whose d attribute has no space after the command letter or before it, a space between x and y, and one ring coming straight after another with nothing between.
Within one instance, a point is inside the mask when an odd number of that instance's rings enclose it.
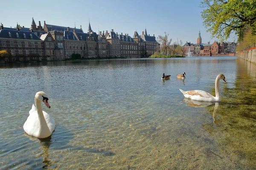
<instances>
[{"instance_id":1,"label":"dark greenish-brown tree reflection on the water along the right edge","mask_svg":"<svg viewBox=\"0 0 256 170\"><path fill-rule=\"evenodd\" d=\"M222 86L222 102L218 110L207 107L209 113L214 113L215 125L204 123L203 127L215 136L223 153L236 156L232 158L234 164L251 168L256 164L256 83L239 70L234 88Z\"/></svg>"}]
</instances>

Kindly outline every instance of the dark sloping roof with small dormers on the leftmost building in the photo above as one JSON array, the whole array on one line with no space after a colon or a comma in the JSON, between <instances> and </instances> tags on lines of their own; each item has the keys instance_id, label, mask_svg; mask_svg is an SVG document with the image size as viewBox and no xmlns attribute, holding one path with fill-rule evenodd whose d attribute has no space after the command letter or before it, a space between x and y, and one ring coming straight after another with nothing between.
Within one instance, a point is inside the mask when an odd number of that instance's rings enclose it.
<instances>
[{"instance_id":1,"label":"dark sloping roof with small dormers on the leftmost building","mask_svg":"<svg viewBox=\"0 0 256 170\"><path fill-rule=\"evenodd\" d=\"M9 37L9 33L11 33L12 37ZM19 37L17 37L17 34ZM26 35L26 38L24 37L24 34ZM32 38L31 38L32 35ZM6 39L17 39L17 40L39 40L41 39L36 36L33 32L29 31L17 31L13 29L2 29L0 30L0 38L6 38Z\"/></svg>"}]
</instances>

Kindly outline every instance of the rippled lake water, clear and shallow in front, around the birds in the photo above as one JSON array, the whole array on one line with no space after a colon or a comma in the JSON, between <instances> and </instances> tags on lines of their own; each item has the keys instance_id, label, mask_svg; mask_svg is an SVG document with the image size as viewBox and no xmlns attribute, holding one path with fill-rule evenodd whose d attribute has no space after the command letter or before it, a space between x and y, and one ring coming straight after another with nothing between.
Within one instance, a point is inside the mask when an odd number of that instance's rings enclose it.
<instances>
[{"instance_id":1,"label":"rippled lake water, clear and shallow in front, around the birds","mask_svg":"<svg viewBox=\"0 0 256 170\"><path fill-rule=\"evenodd\" d=\"M179 88L214 95L220 73L221 103L183 101ZM1 170L256 168L256 65L237 57L21 63L0 75ZM56 123L43 140L23 131L37 91Z\"/></svg>"}]
</instances>

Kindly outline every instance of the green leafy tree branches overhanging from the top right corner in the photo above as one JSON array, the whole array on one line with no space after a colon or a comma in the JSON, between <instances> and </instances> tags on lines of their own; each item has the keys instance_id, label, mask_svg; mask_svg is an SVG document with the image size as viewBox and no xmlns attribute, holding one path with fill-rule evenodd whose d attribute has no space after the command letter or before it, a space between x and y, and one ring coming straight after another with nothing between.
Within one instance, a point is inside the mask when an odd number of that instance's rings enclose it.
<instances>
[{"instance_id":1,"label":"green leafy tree branches overhanging from the top right corner","mask_svg":"<svg viewBox=\"0 0 256 170\"><path fill-rule=\"evenodd\" d=\"M201 12L204 26L212 37L224 40L234 32L242 41L246 28L256 34L256 0L202 0L201 7L205 8Z\"/></svg>"}]
</instances>

